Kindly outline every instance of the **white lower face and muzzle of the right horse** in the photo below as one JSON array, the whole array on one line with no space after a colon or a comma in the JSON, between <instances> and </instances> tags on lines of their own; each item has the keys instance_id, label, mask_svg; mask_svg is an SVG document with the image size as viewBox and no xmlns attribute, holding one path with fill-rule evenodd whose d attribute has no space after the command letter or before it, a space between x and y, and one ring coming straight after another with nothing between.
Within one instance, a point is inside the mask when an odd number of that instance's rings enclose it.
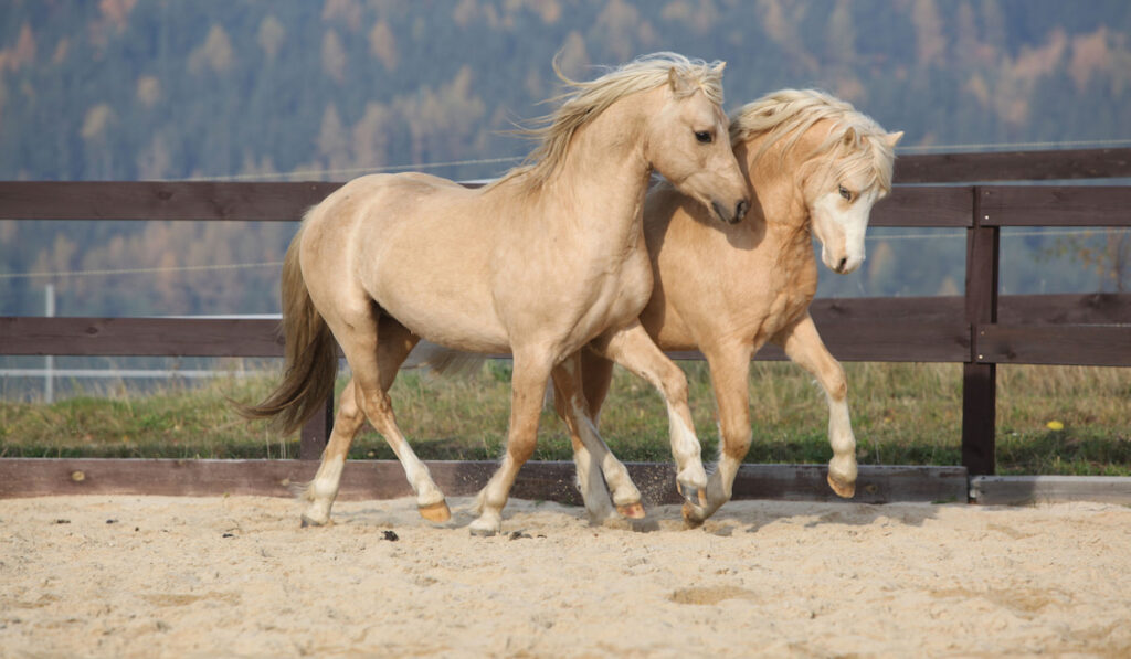
<instances>
[{"instance_id":1,"label":"white lower face and muzzle of the right horse","mask_svg":"<svg viewBox=\"0 0 1131 659\"><path fill-rule=\"evenodd\" d=\"M864 262L864 233L877 197L869 190L846 205L838 192L827 192L813 202L813 233L821 241L826 268L847 275Z\"/></svg>"}]
</instances>

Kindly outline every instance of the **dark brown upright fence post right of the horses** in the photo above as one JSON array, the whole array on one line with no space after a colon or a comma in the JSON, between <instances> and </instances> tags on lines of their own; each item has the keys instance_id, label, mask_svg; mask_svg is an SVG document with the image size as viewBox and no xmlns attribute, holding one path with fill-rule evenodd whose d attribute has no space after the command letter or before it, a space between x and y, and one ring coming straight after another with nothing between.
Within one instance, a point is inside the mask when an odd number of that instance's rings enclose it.
<instances>
[{"instance_id":1,"label":"dark brown upright fence post right of the horses","mask_svg":"<svg viewBox=\"0 0 1131 659\"><path fill-rule=\"evenodd\" d=\"M981 353L983 324L998 322L998 265L1001 229L988 224L983 200L991 191L974 188L973 223L966 234L966 320L970 358L962 366L962 466L972 476L996 470L994 424L998 416L998 365Z\"/></svg>"}]
</instances>

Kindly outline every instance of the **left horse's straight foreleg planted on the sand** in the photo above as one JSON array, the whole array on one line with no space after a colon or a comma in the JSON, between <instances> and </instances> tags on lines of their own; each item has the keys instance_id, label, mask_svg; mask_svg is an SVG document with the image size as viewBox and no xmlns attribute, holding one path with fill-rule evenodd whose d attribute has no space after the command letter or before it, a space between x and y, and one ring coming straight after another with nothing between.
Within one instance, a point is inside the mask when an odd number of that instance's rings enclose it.
<instances>
[{"instance_id":1,"label":"left horse's straight foreleg planted on the sand","mask_svg":"<svg viewBox=\"0 0 1131 659\"><path fill-rule=\"evenodd\" d=\"M519 468L534 454L538 439L538 416L542 413L552 358L545 352L523 353L517 349L513 356L507 453L476 498L475 508L480 517L470 524L474 536L493 536L502 529L502 509L507 505L510 488L515 485Z\"/></svg>"}]
</instances>

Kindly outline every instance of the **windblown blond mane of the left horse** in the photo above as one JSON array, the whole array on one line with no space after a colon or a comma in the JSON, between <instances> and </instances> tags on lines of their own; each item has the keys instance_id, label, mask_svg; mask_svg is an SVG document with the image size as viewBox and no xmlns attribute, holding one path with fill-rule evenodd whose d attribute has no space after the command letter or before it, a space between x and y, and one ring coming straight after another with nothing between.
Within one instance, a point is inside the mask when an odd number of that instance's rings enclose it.
<instances>
[{"instance_id":1,"label":"windblown blond mane of the left horse","mask_svg":"<svg viewBox=\"0 0 1131 659\"><path fill-rule=\"evenodd\" d=\"M558 58L554 58L553 67L554 73L570 90L544 102L560 102L556 111L532 120L529 128L520 127L515 131L541 144L526 156L523 165L510 170L489 188L521 175L526 175L521 181L525 189L541 187L566 157L570 140L579 128L621 98L667 84L673 70L683 83L674 90L677 98L701 90L710 101L723 104L722 62L708 63L679 53L659 52L641 55L588 81L568 78L559 68Z\"/></svg>"}]
</instances>

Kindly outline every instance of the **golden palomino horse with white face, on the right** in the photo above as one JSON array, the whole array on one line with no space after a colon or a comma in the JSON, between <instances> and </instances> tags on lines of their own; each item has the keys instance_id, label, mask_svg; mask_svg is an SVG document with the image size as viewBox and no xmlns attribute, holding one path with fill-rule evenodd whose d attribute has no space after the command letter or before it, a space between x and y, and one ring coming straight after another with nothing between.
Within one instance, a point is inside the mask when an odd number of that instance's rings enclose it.
<instances>
[{"instance_id":1,"label":"golden palomino horse with white face, on the right","mask_svg":"<svg viewBox=\"0 0 1131 659\"><path fill-rule=\"evenodd\" d=\"M684 505L691 523L731 498L750 448L750 359L767 340L783 346L824 389L834 453L828 482L843 497L855 493L856 440L844 370L826 349L808 311L817 291L811 234L821 242L821 260L830 270L847 274L860 267L869 214L891 190L893 149L903 137L884 132L848 103L793 89L744 106L729 132L754 192L746 222L711 223L670 185L649 193L645 207L655 287L640 322L661 348L706 355L723 435L706 504ZM581 358L587 416L595 419L608 391L612 363L590 350ZM562 406L559 413L572 414ZM571 430L577 425L567 423ZM580 440L575 433L575 449L586 450ZM578 461L579 470L584 465L588 462ZM595 476L579 474L578 479L585 484ZM608 506L601 489L582 492L590 513ZM597 500L590 502L589 496Z\"/></svg>"}]
</instances>

